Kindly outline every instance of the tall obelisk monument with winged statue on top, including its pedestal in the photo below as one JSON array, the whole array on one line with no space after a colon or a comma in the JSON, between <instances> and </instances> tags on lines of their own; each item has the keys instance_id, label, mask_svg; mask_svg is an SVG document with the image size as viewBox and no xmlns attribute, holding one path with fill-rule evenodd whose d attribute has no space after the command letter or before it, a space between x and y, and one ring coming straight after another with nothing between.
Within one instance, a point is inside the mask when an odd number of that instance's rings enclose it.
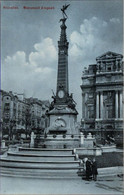
<instances>
[{"instance_id":1,"label":"tall obelisk monument with winged statue on top, including its pedestal","mask_svg":"<svg viewBox=\"0 0 124 195\"><path fill-rule=\"evenodd\" d=\"M69 5L64 5L61 9L63 17L60 19L61 33L60 40L58 41L57 88L56 94L53 93L52 96L53 101L51 103L50 110L47 113L49 118L49 125L48 128L45 130L45 134L47 135L47 141L48 137L51 137L52 135L54 135L54 138L56 137L56 140L57 138L60 137L62 138L62 136L63 138L67 137L69 138L70 136L69 139L71 140L72 138L74 138L74 136L78 136L79 139L79 131L78 128L76 128L78 114L76 110L76 102L73 100L72 94L69 94L68 80L69 42L67 41L66 36L67 26L65 24L68 18L67 14L65 13L65 10L68 8L68 6ZM79 142L79 140L77 141ZM76 146L78 145L76 144Z\"/></svg>"}]
</instances>

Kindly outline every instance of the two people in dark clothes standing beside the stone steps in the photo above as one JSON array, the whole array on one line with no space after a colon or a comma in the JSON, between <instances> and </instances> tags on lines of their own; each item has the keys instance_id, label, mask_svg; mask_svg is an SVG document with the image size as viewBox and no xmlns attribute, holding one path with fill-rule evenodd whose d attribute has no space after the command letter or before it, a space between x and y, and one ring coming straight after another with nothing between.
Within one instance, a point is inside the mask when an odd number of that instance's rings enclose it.
<instances>
[{"instance_id":1,"label":"two people in dark clothes standing beside the stone steps","mask_svg":"<svg viewBox=\"0 0 124 195\"><path fill-rule=\"evenodd\" d=\"M86 180L93 179L94 181L97 180L97 162L95 158L93 160L90 160L89 158L85 158L84 160L85 163L85 170L86 170Z\"/></svg>"}]
</instances>

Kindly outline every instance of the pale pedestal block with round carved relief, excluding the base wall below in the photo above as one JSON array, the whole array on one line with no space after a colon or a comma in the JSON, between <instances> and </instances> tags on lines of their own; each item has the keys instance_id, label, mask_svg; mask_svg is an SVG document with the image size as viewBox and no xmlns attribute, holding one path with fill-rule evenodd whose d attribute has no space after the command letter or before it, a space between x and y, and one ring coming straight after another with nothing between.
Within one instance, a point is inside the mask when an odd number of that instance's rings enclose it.
<instances>
[{"instance_id":1,"label":"pale pedestal block with round carved relief, excluding the base wall below","mask_svg":"<svg viewBox=\"0 0 124 195\"><path fill-rule=\"evenodd\" d=\"M77 125L77 111L67 105L55 105L48 113L50 124L46 134L79 134Z\"/></svg>"}]
</instances>

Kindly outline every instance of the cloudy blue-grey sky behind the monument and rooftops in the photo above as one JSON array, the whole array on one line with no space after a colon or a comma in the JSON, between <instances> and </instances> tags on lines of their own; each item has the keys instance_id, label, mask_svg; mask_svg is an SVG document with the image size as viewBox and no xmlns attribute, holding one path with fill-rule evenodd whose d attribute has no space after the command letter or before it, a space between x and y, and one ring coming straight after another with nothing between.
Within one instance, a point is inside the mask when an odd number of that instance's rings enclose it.
<instances>
[{"instance_id":1,"label":"cloudy blue-grey sky behind the monument and rooftops","mask_svg":"<svg viewBox=\"0 0 124 195\"><path fill-rule=\"evenodd\" d=\"M70 4L66 11L69 92L77 102L80 121L84 67L96 63L96 57L107 51L123 52L123 0L2 1L1 88L52 101L51 89L56 93L57 84L59 20L65 3ZM18 9L10 8L14 6Z\"/></svg>"}]
</instances>

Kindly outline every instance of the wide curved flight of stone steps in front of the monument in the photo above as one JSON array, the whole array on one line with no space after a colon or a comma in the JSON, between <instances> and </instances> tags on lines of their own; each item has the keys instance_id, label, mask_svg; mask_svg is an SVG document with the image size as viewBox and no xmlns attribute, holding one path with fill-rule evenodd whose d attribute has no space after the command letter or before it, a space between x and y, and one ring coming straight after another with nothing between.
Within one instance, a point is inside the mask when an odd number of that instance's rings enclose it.
<instances>
[{"instance_id":1,"label":"wide curved flight of stone steps in front of the monument","mask_svg":"<svg viewBox=\"0 0 124 195\"><path fill-rule=\"evenodd\" d=\"M5 176L77 178L79 165L72 149L18 148L0 159Z\"/></svg>"}]
</instances>

